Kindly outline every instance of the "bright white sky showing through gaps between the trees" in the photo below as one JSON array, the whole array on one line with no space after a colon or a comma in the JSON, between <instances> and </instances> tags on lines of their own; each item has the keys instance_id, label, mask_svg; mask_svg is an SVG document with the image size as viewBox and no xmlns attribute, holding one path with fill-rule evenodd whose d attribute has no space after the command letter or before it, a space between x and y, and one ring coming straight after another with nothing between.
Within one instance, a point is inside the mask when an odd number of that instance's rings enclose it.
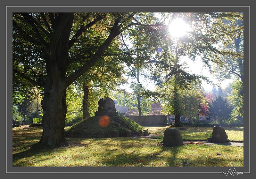
<instances>
[{"instance_id":1,"label":"bright white sky showing through gaps between the trees","mask_svg":"<svg viewBox=\"0 0 256 179\"><path fill-rule=\"evenodd\" d=\"M159 13L156 13L156 15L158 17L160 17ZM168 21L169 20L166 21L166 24L168 24ZM172 23L176 23L175 26L181 27L180 29L176 29L176 30L170 29L170 34L173 33L175 36L184 35L185 34L184 29L189 28L189 26L187 26L184 23L184 21L182 21L182 19L176 19ZM126 43L129 46L131 45L131 43L129 41L126 41ZM220 81L218 78L216 78L213 74L211 74L209 72L208 67L204 66L203 62L201 61L201 59L199 57L197 57L194 62L192 60L190 60L188 57L180 58L180 63L183 63L183 62L186 63L186 65L184 67L186 67L187 72L194 73L196 75L203 75L203 76L207 77L209 80L211 80L214 84L217 84L218 86L220 86L222 89L225 89L225 87L228 86L228 84L233 81L233 79L226 79L224 81ZM129 70L128 67L126 67L125 69ZM135 81L136 81L136 79L135 79ZM131 82L131 80L128 80L128 83L129 82ZM154 91L154 89L156 87L154 85L153 81L151 81L149 79L145 79L143 77L140 77L140 82L143 86L145 86L147 89L149 89L151 91ZM202 81L202 87L204 88L204 90L206 92L210 92L212 90L213 85L207 84L206 82ZM121 86L121 88L130 92L129 85Z\"/></svg>"}]
</instances>

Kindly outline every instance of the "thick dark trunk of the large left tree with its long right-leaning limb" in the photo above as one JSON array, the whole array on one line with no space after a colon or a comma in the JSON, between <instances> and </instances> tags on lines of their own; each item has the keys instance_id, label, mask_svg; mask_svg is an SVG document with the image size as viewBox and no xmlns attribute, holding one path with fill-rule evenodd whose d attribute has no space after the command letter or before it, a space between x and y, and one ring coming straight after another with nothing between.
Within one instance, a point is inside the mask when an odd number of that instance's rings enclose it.
<instances>
[{"instance_id":1,"label":"thick dark trunk of the large left tree with its long right-leaning limb","mask_svg":"<svg viewBox=\"0 0 256 179\"><path fill-rule=\"evenodd\" d=\"M59 15L58 17L56 16L56 19L54 19L54 14L52 14L52 18L50 17L51 22L55 25L53 26L54 33L51 34L50 43L47 47L47 57L45 57L47 81L46 84L42 85L42 87L44 87L44 97L42 100L42 109L44 110L42 120L43 134L40 141L35 145L51 148L68 145L67 140L64 138L64 124L67 113L67 87L89 70L103 55L111 41L120 34L120 29L118 28L120 18L118 17L109 36L96 51L95 55L87 63L66 77L68 66L68 47L75 43L74 39L74 43L69 40L74 13L58 14ZM76 35L77 34L74 36ZM80 35L78 34L78 37L79 36ZM76 39L77 37L74 38Z\"/></svg>"}]
</instances>

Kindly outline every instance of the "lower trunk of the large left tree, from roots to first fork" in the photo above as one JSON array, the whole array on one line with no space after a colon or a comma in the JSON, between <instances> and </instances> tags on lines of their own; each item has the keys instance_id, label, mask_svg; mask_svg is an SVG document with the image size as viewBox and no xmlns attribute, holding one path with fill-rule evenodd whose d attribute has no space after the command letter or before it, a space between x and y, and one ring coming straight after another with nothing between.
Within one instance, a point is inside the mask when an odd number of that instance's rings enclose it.
<instances>
[{"instance_id":1,"label":"lower trunk of the large left tree, from roots to first fork","mask_svg":"<svg viewBox=\"0 0 256 179\"><path fill-rule=\"evenodd\" d=\"M45 92L42 100L43 134L35 146L47 146L50 148L67 146L64 138L64 124L67 114L66 91L53 90Z\"/></svg>"}]
</instances>

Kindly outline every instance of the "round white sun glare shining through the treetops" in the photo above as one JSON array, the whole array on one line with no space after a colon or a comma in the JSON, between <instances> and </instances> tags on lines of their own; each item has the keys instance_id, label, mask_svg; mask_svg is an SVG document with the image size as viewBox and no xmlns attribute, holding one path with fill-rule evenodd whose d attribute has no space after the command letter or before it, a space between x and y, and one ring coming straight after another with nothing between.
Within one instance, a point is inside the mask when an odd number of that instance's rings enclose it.
<instances>
[{"instance_id":1,"label":"round white sun glare shining through the treetops","mask_svg":"<svg viewBox=\"0 0 256 179\"><path fill-rule=\"evenodd\" d=\"M171 22L169 25L169 32L172 37L181 37L186 35L190 27L182 19L178 18Z\"/></svg>"}]
</instances>

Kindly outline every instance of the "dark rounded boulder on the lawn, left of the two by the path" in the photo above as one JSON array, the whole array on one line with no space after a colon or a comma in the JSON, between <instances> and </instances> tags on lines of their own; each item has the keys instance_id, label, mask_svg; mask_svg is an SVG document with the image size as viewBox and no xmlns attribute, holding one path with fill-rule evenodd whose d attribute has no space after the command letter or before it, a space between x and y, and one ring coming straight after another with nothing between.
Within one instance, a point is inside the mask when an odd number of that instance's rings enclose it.
<instances>
[{"instance_id":1,"label":"dark rounded boulder on the lawn, left of the two by the path","mask_svg":"<svg viewBox=\"0 0 256 179\"><path fill-rule=\"evenodd\" d=\"M164 146L184 145L178 129L167 128L163 136Z\"/></svg>"}]
</instances>

